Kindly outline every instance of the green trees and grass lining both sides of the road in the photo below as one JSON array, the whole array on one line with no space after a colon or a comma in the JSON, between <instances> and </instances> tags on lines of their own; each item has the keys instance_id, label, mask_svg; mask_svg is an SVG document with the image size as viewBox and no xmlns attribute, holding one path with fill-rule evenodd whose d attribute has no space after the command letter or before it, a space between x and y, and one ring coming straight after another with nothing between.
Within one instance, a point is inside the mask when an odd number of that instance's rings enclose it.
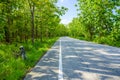
<instances>
[{"instance_id":1,"label":"green trees and grass lining both sides of the road","mask_svg":"<svg viewBox=\"0 0 120 80\"><path fill-rule=\"evenodd\" d=\"M68 8L56 3L0 0L0 79L22 79L61 36L120 47L120 0L77 0L79 14L68 25L60 23Z\"/></svg>"}]
</instances>

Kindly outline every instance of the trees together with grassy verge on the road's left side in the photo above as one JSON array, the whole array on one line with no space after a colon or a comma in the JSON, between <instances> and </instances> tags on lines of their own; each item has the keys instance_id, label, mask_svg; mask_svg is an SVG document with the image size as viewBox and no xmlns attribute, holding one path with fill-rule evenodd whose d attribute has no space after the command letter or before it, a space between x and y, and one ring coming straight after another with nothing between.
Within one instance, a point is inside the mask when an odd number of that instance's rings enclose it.
<instances>
[{"instance_id":1,"label":"trees together with grassy verge on the road's left side","mask_svg":"<svg viewBox=\"0 0 120 80\"><path fill-rule=\"evenodd\" d=\"M56 0L0 0L0 80L20 80L64 35ZM27 59L20 55L25 48Z\"/></svg>"}]
</instances>

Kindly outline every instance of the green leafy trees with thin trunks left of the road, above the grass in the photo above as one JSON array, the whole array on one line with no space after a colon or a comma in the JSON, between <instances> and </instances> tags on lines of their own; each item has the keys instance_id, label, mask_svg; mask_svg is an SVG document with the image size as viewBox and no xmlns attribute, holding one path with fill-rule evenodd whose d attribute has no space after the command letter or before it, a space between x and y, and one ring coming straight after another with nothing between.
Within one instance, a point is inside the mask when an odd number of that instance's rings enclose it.
<instances>
[{"instance_id":1,"label":"green leafy trees with thin trunks left of the road, above the grass","mask_svg":"<svg viewBox=\"0 0 120 80\"><path fill-rule=\"evenodd\" d=\"M7 0L0 3L0 42L25 42L31 38L54 37L60 15L57 0ZM54 31L54 32L53 32Z\"/></svg>"}]
</instances>

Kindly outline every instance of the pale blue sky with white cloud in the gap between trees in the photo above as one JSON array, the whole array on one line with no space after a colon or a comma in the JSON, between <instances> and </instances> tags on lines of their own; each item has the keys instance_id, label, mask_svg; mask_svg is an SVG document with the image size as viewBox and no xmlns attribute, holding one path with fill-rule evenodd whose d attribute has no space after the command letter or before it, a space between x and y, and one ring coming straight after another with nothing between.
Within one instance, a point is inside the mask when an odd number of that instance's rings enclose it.
<instances>
[{"instance_id":1,"label":"pale blue sky with white cloud in the gap between trees","mask_svg":"<svg viewBox=\"0 0 120 80\"><path fill-rule=\"evenodd\" d=\"M68 24L74 17L77 16L77 8L75 7L76 3L77 0L58 0L57 6L64 6L68 8L66 14L60 17L61 23Z\"/></svg>"}]
</instances>

